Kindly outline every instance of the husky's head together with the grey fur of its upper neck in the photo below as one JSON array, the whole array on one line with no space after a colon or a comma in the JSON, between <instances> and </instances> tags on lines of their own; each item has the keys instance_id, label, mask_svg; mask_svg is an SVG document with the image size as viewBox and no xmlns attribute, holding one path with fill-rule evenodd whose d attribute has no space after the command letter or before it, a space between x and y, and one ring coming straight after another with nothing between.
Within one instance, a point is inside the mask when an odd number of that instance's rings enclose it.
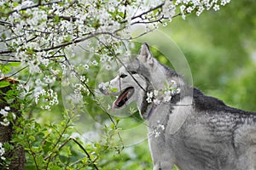
<instances>
[{"instance_id":1,"label":"husky's head together with the grey fur of its upper neck","mask_svg":"<svg viewBox=\"0 0 256 170\"><path fill-rule=\"evenodd\" d=\"M143 43L137 58L128 65L123 65L117 77L102 83L99 88L102 94L118 95L113 102L114 109L123 108L132 101L137 101L137 108L145 118L147 116L143 114L149 105L147 101L145 102L148 92L152 92L153 89L163 89L166 83L179 80L181 78L177 73L154 59L148 44Z\"/></svg>"}]
</instances>

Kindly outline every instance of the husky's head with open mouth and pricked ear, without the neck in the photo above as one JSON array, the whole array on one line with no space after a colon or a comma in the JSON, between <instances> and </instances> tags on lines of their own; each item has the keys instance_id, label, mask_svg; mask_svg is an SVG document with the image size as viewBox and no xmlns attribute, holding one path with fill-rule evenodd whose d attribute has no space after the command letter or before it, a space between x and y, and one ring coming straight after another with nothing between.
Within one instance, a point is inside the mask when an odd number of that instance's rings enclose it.
<instances>
[{"instance_id":1,"label":"husky's head with open mouth and pricked ear, without the neck","mask_svg":"<svg viewBox=\"0 0 256 170\"><path fill-rule=\"evenodd\" d=\"M149 51L148 44L144 43L137 58L128 65L119 68L117 77L100 85L100 91L105 95L119 95L113 102L113 108L120 109L137 101L138 109L143 103L149 83L148 68L154 65L154 58Z\"/></svg>"}]
</instances>

